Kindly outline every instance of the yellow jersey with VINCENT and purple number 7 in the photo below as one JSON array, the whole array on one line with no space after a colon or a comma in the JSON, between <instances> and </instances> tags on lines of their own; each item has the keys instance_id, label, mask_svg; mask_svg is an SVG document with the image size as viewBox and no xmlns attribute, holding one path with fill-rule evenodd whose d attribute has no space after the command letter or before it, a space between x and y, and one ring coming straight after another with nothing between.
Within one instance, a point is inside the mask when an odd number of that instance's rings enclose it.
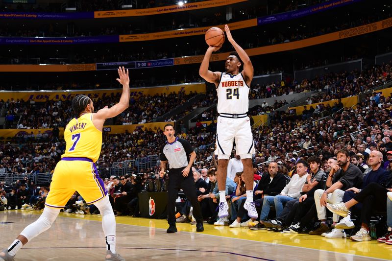
<instances>
[{"instance_id":1,"label":"yellow jersey with VINCENT and purple number 7","mask_svg":"<svg viewBox=\"0 0 392 261\"><path fill-rule=\"evenodd\" d=\"M64 128L67 143L62 157L83 157L96 162L102 146L102 132L93 124L93 114L87 113L73 118Z\"/></svg>"}]
</instances>

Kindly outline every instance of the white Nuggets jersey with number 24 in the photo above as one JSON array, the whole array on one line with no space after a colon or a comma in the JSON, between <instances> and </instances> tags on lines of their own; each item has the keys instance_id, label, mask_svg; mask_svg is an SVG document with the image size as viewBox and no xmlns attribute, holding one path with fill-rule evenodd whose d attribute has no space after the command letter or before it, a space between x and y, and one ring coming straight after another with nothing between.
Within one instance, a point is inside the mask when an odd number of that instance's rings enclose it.
<instances>
[{"instance_id":1,"label":"white Nuggets jersey with number 24","mask_svg":"<svg viewBox=\"0 0 392 261\"><path fill-rule=\"evenodd\" d=\"M222 72L221 81L217 87L218 113L245 114L249 108L249 87L242 73L231 75Z\"/></svg>"}]
</instances>

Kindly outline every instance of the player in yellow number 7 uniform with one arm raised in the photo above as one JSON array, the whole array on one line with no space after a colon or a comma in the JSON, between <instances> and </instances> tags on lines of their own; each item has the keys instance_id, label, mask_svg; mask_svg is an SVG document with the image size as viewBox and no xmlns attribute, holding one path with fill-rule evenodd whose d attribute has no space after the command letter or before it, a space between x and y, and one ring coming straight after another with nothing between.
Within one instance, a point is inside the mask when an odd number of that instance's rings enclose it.
<instances>
[{"instance_id":1,"label":"player in yellow number 7 uniform with one arm raised","mask_svg":"<svg viewBox=\"0 0 392 261\"><path fill-rule=\"evenodd\" d=\"M99 177L95 162L102 146L102 128L106 119L122 113L129 106L128 69L118 69L119 83L123 93L119 103L107 106L94 113L93 101L86 95L77 95L72 100L74 118L64 128L65 153L54 168L45 209L34 223L28 225L14 242L2 252L0 261L12 261L15 254L27 242L48 230L76 191L87 204L94 204L102 215L102 229L106 241L105 260L123 261L116 253L116 219L109 202L107 190Z\"/></svg>"}]
</instances>

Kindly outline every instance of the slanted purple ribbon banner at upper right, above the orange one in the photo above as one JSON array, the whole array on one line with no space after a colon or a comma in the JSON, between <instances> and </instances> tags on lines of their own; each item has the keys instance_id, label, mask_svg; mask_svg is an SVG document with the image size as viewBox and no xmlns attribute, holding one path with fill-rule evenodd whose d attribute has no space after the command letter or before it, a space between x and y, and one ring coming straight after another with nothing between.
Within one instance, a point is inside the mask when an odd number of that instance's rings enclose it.
<instances>
[{"instance_id":1,"label":"slanted purple ribbon banner at upper right, above the orange one","mask_svg":"<svg viewBox=\"0 0 392 261\"><path fill-rule=\"evenodd\" d=\"M313 15L319 12L331 10L336 7L341 7L347 4L360 2L361 0L331 0L324 3L315 4L309 7L301 8L298 10L285 12L277 15L263 16L257 18L257 24L271 24L276 22L282 22L295 18L300 18L307 15Z\"/></svg>"}]
</instances>

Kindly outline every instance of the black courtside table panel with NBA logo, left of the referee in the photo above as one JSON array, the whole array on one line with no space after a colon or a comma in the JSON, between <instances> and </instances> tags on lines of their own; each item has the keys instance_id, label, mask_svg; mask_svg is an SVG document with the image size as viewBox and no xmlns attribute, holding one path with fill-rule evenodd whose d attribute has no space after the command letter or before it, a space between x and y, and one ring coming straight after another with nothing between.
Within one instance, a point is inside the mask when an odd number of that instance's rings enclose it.
<instances>
[{"instance_id":1,"label":"black courtside table panel with NBA logo, left of the referee","mask_svg":"<svg viewBox=\"0 0 392 261\"><path fill-rule=\"evenodd\" d=\"M142 217L165 219L168 216L168 192L141 192L139 211Z\"/></svg>"}]
</instances>

